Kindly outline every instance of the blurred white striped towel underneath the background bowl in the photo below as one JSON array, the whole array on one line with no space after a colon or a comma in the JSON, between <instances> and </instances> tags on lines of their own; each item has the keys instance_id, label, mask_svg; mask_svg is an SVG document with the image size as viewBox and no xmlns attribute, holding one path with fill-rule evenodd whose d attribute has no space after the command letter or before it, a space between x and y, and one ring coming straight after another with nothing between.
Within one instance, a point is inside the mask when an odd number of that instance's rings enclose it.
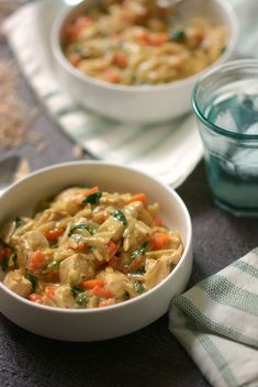
<instances>
[{"instance_id":1,"label":"blurred white striped towel underneath the background bowl","mask_svg":"<svg viewBox=\"0 0 258 387\"><path fill-rule=\"evenodd\" d=\"M242 14L242 21L247 21L243 24L238 54L255 55L258 1L229 1ZM30 85L66 134L92 156L137 167L177 188L202 157L193 114L167 123L135 125L104 120L79 108L58 84L49 44L54 19L68 7L66 2L69 1L30 2L4 23L10 45Z\"/></svg>"}]
</instances>

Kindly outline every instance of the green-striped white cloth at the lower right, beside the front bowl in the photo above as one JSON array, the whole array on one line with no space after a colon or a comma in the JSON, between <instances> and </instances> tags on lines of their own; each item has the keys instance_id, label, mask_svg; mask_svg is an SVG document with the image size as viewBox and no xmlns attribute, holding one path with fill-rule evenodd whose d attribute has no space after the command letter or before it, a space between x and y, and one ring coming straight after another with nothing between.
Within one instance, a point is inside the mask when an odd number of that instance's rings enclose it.
<instances>
[{"instance_id":1,"label":"green-striped white cloth at the lower right, beside the front bowl","mask_svg":"<svg viewBox=\"0 0 258 387\"><path fill-rule=\"evenodd\" d=\"M169 329L215 387L258 386L258 248L171 301Z\"/></svg>"}]
</instances>

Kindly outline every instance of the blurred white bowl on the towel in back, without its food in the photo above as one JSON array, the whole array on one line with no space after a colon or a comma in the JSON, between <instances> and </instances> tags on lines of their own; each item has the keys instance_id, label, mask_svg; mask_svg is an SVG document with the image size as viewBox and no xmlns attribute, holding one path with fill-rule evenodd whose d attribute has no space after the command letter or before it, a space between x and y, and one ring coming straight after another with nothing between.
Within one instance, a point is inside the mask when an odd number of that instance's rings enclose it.
<instances>
[{"instance_id":1,"label":"blurred white bowl on the towel in back, without its food","mask_svg":"<svg viewBox=\"0 0 258 387\"><path fill-rule=\"evenodd\" d=\"M108 84L75 68L66 59L61 45L64 30L81 11L96 0L88 0L58 15L52 31L52 49L56 59L56 75L82 107L102 115L127 122L155 122L179 117L191 110L191 92L198 78L205 71L182 80L157 86L122 86ZM179 14L183 19L206 15L215 24L225 25L227 47L213 65L232 57L237 36L238 23L231 4L225 0L182 1ZM210 69L209 66L206 69Z\"/></svg>"}]
</instances>

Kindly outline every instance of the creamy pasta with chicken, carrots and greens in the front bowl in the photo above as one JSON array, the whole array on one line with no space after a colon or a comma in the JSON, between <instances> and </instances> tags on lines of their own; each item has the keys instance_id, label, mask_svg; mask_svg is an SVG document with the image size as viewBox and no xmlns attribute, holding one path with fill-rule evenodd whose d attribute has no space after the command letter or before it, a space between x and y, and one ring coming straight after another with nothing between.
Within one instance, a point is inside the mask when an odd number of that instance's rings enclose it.
<instances>
[{"instance_id":1,"label":"creamy pasta with chicken, carrots and greens in the front bowl","mask_svg":"<svg viewBox=\"0 0 258 387\"><path fill-rule=\"evenodd\" d=\"M101 308L137 297L179 262L180 235L145 194L67 188L0 230L0 279L32 302Z\"/></svg>"}]
</instances>

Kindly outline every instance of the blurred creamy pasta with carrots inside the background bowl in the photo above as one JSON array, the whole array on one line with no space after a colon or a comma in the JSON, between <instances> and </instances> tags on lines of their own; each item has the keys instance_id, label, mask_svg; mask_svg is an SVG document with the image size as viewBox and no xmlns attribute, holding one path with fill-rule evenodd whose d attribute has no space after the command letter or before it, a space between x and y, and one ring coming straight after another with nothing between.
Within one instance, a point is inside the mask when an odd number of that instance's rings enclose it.
<instances>
[{"instance_id":1,"label":"blurred creamy pasta with carrots inside the background bowl","mask_svg":"<svg viewBox=\"0 0 258 387\"><path fill-rule=\"evenodd\" d=\"M64 52L86 75L122 85L158 85L192 76L225 49L222 25L177 21L156 0L102 0L65 29Z\"/></svg>"}]
</instances>

